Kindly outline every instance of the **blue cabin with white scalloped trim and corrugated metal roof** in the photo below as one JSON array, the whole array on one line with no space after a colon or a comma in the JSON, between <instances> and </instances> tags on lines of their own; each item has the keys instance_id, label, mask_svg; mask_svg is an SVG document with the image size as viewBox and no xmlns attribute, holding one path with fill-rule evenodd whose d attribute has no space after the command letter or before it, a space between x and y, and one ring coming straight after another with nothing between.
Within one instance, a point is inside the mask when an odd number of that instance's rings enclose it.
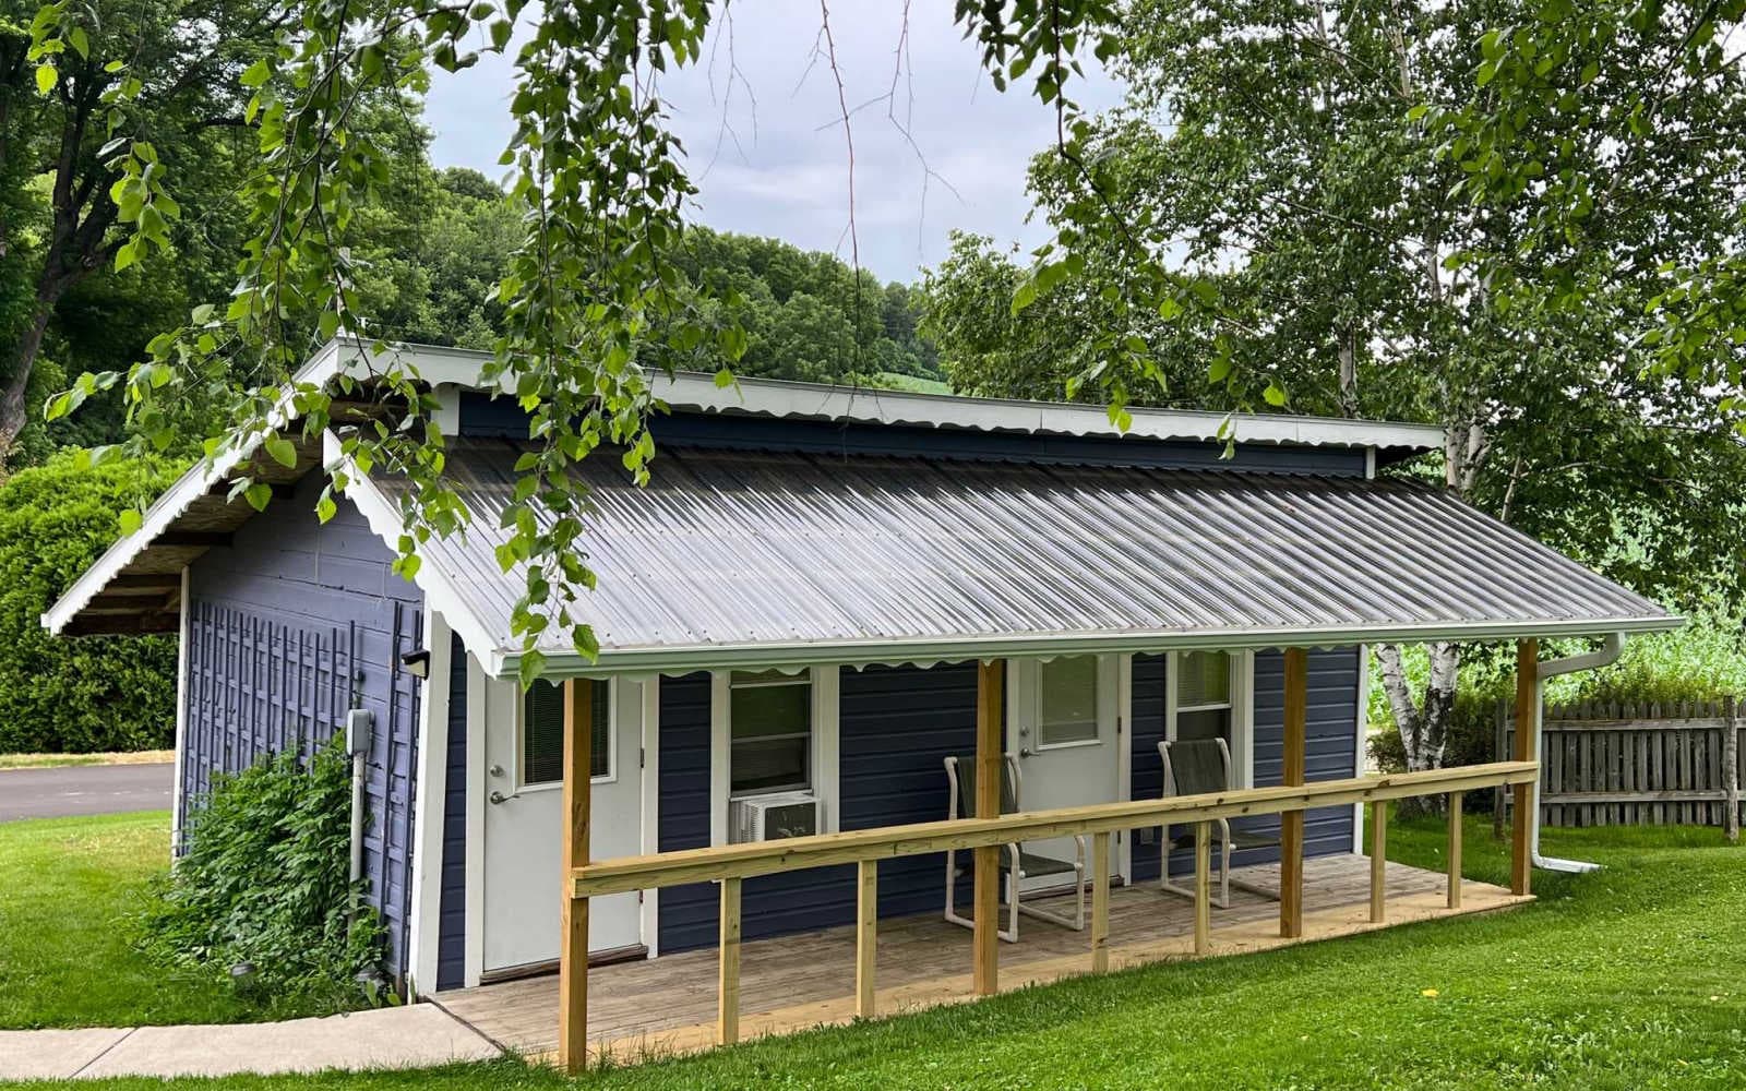
<instances>
[{"instance_id":1,"label":"blue cabin with white scalloped trim and corrugated metal roof","mask_svg":"<svg viewBox=\"0 0 1746 1091\"><path fill-rule=\"evenodd\" d=\"M560 955L564 693L515 681L520 576L499 513L527 449L484 356L402 347L436 395L464 534L393 573L403 484L351 473L318 522L332 436L276 499L189 471L45 614L54 632L176 632L176 820L211 779L367 716L365 878L407 993L553 969ZM328 346L304 379L365 377ZM1304 648L1303 777L1364 772L1365 644L1667 628L1678 620L1439 489L1381 471L1440 449L1418 424L653 379L665 412L639 487L578 470L594 511L592 859L964 813L948 759L978 749L980 665L1002 672L1025 810L1154 799L1161 742L1220 740L1231 789L1282 782L1285 648ZM1231 440L1227 443L1227 438ZM1362 806L1311 810L1308 857L1362 850ZM1278 859L1280 817L1233 822L1236 864ZM1172 840L1173 843L1173 840ZM1039 857L1072 857L1070 838ZM1189 866L1177 850L1173 871ZM1158 826L1116 831L1110 882L1156 885ZM1039 869L1041 871L1041 869ZM1030 875L1025 897L1083 885ZM945 854L887 861L880 918L969 902ZM595 897L590 962L716 944L712 883ZM749 878L744 937L856 920L854 866ZM1027 929L1058 927L1025 923Z\"/></svg>"}]
</instances>

